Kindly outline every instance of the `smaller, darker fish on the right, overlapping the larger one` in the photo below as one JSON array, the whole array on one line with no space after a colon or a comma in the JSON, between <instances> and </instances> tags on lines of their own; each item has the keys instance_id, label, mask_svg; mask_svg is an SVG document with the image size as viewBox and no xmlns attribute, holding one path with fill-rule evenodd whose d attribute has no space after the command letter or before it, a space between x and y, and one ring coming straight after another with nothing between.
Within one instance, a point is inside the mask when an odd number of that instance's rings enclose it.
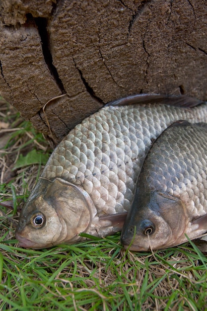
<instances>
[{"instance_id":1,"label":"smaller, darker fish on the right, overlapping the larger one","mask_svg":"<svg viewBox=\"0 0 207 311\"><path fill-rule=\"evenodd\" d=\"M207 123L181 120L161 133L144 159L121 241L133 251L148 251L205 233Z\"/></svg>"}]
</instances>

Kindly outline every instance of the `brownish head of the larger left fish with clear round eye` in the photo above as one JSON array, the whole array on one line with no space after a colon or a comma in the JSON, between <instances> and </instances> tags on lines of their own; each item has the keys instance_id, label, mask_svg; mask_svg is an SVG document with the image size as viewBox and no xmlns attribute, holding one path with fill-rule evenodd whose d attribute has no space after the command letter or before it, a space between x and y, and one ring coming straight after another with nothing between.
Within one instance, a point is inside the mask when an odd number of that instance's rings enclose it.
<instances>
[{"instance_id":1,"label":"brownish head of the larger left fish with clear round eye","mask_svg":"<svg viewBox=\"0 0 207 311\"><path fill-rule=\"evenodd\" d=\"M79 186L61 178L40 179L22 209L15 237L19 245L44 248L80 239L96 209Z\"/></svg>"}]
</instances>

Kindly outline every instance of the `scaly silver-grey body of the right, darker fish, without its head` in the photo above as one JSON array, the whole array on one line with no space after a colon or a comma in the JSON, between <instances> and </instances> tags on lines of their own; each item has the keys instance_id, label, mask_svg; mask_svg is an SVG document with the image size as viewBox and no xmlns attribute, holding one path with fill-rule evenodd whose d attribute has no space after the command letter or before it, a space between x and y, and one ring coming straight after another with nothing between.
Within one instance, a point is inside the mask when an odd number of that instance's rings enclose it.
<instances>
[{"instance_id":1,"label":"scaly silver-grey body of the right, darker fish, without its head","mask_svg":"<svg viewBox=\"0 0 207 311\"><path fill-rule=\"evenodd\" d=\"M180 198L192 219L207 213L207 127L167 129L148 153L139 175L150 191Z\"/></svg>"}]
</instances>

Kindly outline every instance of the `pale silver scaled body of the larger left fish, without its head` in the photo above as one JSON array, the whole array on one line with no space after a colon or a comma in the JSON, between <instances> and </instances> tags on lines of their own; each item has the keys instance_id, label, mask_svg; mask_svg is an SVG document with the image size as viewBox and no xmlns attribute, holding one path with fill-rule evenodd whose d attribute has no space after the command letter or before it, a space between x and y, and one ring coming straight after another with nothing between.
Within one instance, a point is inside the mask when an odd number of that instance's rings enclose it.
<instances>
[{"instance_id":1,"label":"pale silver scaled body of the larger left fish, without its head","mask_svg":"<svg viewBox=\"0 0 207 311\"><path fill-rule=\"evenodd\" d=\"M207 107L104 107L69 132L54 150L42 177L60 177L81 185L99 216L129 210L151 140L180 119L207 122Z\"/></svg>"}]
</instances>

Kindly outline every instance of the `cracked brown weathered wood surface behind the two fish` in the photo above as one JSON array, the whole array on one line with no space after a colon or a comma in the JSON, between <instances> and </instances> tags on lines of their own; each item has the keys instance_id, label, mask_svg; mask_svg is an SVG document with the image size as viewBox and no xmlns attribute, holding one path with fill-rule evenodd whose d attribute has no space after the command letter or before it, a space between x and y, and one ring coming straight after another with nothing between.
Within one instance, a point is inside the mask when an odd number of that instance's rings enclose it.
<instances>
[{"instance_id":1,"label":"cracked brown weathered wood surface behind the two fish","mask_svg":"<svg viewBox=\"0 0 207 311\"><path fill-rule=\"evenodd\" d=\"M0 94L39 131L147 92L207 99L206 0L0 0Z\"/></svg>"}]
</instances>

